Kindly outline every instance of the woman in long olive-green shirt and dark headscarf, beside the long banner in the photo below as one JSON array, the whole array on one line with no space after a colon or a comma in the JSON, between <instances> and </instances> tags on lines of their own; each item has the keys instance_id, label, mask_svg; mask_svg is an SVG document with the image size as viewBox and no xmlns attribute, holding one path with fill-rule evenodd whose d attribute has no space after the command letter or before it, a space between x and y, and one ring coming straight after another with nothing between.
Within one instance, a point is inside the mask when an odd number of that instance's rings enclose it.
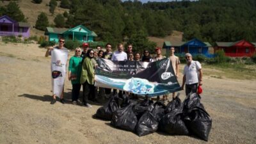
<instances>
[{"instance_id":1,"label":"woman in long olive-green shirt and dark headscarf, beside the long banner","mask_svg":"<svg viewBox=\"0 0 256 144\"><path fill-rule=\"evenodd\" d=\"M92 108L92 105L88 104L89 95L91 95L91 99L93 102L97 101L95 99L95 86L94 84L94 67L93 67L93 57L94 51L89 49L86 54L86 58L84 58L82 73L80 78L80 83L83 84L83 104L86 108Z\"/></svg>"}]
</instances>

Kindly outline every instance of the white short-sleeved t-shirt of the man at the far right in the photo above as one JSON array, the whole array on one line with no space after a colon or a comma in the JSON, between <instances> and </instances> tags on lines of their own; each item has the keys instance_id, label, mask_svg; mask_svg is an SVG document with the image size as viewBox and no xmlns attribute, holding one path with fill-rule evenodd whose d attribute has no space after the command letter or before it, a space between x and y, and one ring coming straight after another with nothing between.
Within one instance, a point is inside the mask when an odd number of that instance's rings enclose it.
<instances>
[{"instance_id":1,"label":"white short-sleeved t-shirt of the man at the far right","mask_svg":"<svg viewBox=\"0 0 256 144\"><path fill-rule=\"evenodd\" d=\"M191 61L191 64L185 65L183 74L186 75L186 84L198 83L198 70L200 70L201 64L198 61Z\"/></svg>"}]
</instances>

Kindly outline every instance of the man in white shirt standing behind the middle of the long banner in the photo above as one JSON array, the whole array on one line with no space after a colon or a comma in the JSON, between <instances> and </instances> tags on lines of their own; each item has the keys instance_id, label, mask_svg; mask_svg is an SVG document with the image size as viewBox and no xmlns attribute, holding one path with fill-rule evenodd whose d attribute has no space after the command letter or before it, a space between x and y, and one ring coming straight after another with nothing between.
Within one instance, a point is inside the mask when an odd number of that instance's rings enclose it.
<instances>
[{"instance_id":1,"label":"man in white shirt standing behind the middle of the long banner","mask_svg":"<svg viewBox=\"0 0 256 144\"><path fill-rule=\"evenodd\" d=\"M127 61L127 53L124 52L123 44L117 45L118 51L113 52L112 54L112 61ZM113 95L116 94L116 90L113 90ZM119 90L118 96L122 97L122 94L124 94L121 90Z\"/></svg>"}]
</instances>

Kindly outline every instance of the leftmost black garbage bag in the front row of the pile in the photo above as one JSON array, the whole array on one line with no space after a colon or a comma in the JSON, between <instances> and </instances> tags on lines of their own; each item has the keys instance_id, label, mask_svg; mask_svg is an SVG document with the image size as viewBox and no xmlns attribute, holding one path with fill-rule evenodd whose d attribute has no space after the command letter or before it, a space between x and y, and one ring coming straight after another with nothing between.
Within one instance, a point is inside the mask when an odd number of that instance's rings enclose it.
<instances>
[{"instance_id":1,"label":"leftmost black garbage bag in the front row of the pile","mask_svg":"<svg viewBox=\"0 0 256 144\"><path fill-rule=\"evenodd\" d=\"M137 125L137 117L132 111L132 105L120 108L113 113L111 125L127 131L134 131Z\"/></svg>"}]
</instances>

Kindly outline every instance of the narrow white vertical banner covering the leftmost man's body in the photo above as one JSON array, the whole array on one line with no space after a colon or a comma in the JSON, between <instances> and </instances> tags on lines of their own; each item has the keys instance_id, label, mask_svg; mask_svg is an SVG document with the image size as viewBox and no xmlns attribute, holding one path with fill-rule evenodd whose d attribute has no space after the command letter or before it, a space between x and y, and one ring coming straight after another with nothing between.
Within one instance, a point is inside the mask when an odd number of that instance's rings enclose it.
<instances>
[{"instance_id":1,"label":"narrow white vertical banner covering the leftmost man's body","mask_svg":"<svg viewBox=\"0 0 256 144\"><path fill-rule=\"evenodd\" d=\"M67 60L68 51L63 49L53 49L51 51L52 94L57 97L60 97L63 90Z\"/></svg>"}]
</instances>

